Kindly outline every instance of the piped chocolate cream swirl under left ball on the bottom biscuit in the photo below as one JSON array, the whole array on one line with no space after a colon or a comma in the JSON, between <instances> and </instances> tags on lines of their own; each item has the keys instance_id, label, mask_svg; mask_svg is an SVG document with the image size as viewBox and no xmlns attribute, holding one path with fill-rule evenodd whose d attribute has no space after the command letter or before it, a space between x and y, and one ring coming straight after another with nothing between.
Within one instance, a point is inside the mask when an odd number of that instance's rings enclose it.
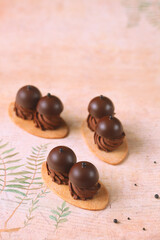
<instances>
[{"instance_id":1,"label":"piped chocolate cream swirl under left ball on the bottom biscuit","mask_svg":"<svg viewBox=\"0 0 160 240\"><path fill-rule=\"evenodd\" d=\"M50 175L53 182L56 182L57 184L68 185L68 174L67 173L60 173L53 169L50 169L48 167L47 163L46 163L46 166L47 166L48 175Z\"/></svg>"}]
</instances>

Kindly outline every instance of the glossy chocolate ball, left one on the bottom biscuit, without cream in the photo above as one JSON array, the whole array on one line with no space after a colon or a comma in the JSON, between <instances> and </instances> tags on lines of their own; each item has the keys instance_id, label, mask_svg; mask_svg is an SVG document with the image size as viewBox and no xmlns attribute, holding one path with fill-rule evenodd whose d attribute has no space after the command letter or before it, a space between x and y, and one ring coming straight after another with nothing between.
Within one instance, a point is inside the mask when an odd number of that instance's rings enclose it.
<instances>
[{"instance_id":1,"label":"glossy chocolate ball, left one on the bottom biscuit, without cream","mask_svg":"<svg viewBox=\"0 0 160 240\"><path fill-rule=\"evenodd\" d=\"M53 148L47 157L48 167L60 173L69 173L76 161L75 153L65 146Z\"/></svg>"}]
</instances>

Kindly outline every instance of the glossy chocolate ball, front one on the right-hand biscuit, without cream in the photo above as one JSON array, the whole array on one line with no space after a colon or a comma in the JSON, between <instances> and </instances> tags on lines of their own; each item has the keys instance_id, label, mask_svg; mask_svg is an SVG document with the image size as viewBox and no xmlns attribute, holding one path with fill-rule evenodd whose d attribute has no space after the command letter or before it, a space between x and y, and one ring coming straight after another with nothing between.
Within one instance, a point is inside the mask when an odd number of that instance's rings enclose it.
<instances>
[{"instance_id":1,"label":"glossy chocolate ball, front one on the right-hand biscuit, without cream","mask_svg":"<svg viewBox=\"0 0 160 240\"><path fill-rule=\"evenodd\" d=\"M95 131L105 138L119 138L123 134L123 126L118 118L105 116L98 121Z\"/></svg>"}]
</instances>

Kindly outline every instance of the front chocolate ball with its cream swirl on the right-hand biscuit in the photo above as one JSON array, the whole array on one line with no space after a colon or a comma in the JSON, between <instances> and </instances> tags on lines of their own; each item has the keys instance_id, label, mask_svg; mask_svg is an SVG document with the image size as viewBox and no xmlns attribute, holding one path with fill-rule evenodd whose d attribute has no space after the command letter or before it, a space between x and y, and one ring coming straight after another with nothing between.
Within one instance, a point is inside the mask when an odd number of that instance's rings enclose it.
<instances>
[{"instance_id":1,"label":"front chocolate ball with its cream swirl on the right-hand biscuit","mask_svg":"<svg viewBox=\"0 0 160 240\"><path fill-rule=\"evenodd\" d=\"M97 123L94 142L100 150L111 152L123 143L124 136L123 126L119 119L106 116Z\"/></svg>"}]
</instances>

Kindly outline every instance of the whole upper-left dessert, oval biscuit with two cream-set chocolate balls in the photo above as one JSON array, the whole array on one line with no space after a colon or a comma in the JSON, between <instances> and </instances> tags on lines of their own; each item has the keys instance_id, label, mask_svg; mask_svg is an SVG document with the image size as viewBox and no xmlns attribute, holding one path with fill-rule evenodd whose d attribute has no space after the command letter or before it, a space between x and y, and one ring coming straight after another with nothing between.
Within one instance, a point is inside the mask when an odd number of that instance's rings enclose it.
<instances>
[{"instance_id":1,"label":"whole upper-left dessert, oval biscuit with two cream-set chocolate balls","mask_svg":"<svg viewBox=\"0 0 160 240\"><path fill-rule=\"evenodd\" d=\"M37 137L47 139L64 138L69 127L60 117L63 104L59 98L51 95L42 97L41 92L31 85L22 87L11 102L8 114L21 129Z\"/></svg>"}]
</instances>

